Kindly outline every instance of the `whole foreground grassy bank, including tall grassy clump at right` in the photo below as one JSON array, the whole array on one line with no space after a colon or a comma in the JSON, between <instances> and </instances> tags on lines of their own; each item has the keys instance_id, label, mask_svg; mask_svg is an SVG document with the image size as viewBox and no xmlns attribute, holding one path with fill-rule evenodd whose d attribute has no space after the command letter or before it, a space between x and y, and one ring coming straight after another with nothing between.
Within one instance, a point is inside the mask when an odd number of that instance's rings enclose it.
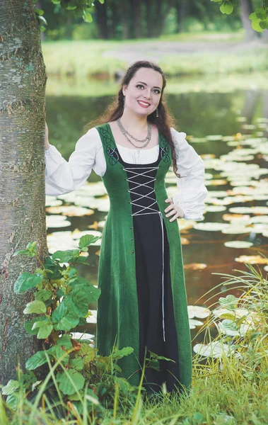
<instances>
[{"instance_id":1,"label":"whole foreground grassy bank, including tall grassy clump at right","mask_svg":"<svg viewBox=\"0 0 268 425\"><path fill-rule=\"evenodd\" d=\"M1 425L266 425L268 282L257 268L248 268L250 271L237 271L238 276L224 275L227 280L217 288L221 291L222 285L230 285L240 296L219 297L216 309L211 306L214 310L202 328L206 344L194 349L193 385L187 397L178 399L164 392L148 400L138 393L133 402L119 395L115 385L110 394L112 409L98 411L98 403L88 409L86 396L84 408L78 413L74 402L49 399L42 385L34 404L22 392L16 412L8 409L0 397ZM221 331L210 344L210 329L215 325ZM215 345L212 348L215 343L216 351ZM76 400L74 396L72 399Z\"/></svg>"}]
</instances>

